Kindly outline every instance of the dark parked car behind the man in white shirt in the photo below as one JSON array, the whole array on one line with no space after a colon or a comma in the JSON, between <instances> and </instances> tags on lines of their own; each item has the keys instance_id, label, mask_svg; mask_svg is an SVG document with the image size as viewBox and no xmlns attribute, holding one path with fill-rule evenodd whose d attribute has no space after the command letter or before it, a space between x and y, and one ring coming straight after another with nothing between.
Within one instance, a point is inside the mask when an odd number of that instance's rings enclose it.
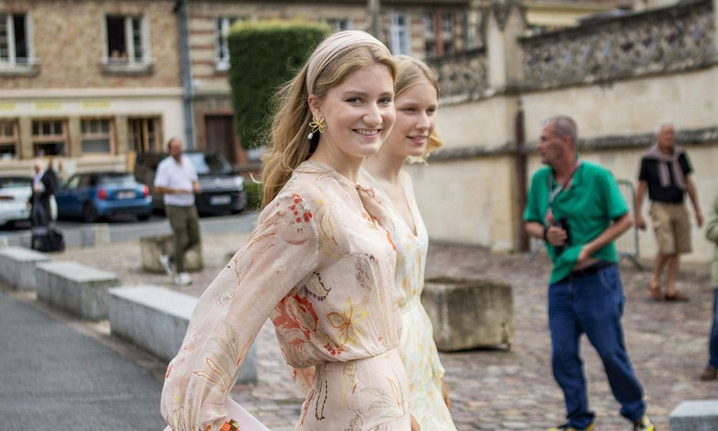
<instances>
[{"instance_id":1,"label":"dark parked car behind the man in white shirt","mask_svg":"<svg viewBox=\"0 0 718 431\"><path fill-rule=\"evenodd\" d=\"M195 204L200 214L239 213L247 205L244 181L232 169L232 165L219 153L185 151L200 179L202 191L195 193ZM148 184L152 195L152 207L164 210L162 195L154 192L154 175L157 165L167 153L138 154L135 162L135 177Z\"/></svg>"}]
</instances>

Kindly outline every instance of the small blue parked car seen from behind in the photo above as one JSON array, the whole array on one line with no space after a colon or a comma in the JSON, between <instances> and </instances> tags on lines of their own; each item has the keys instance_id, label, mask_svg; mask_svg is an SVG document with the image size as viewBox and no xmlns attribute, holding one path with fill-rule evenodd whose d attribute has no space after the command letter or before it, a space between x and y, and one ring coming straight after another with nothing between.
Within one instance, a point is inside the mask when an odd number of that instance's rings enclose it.
<instances>
[{"instance_id":1,"label":"small blue parked car seen from behind","mask_svg":"<svg viewBox=\"0 0 718 431\"><path fill-rule=\"evenodd\" d=\"M58 217L80 217L88 223L114 215L146 220L152 211L149 187L129 172L75 174L57 189L55 200Z\"/></svg>"}]
</instances>

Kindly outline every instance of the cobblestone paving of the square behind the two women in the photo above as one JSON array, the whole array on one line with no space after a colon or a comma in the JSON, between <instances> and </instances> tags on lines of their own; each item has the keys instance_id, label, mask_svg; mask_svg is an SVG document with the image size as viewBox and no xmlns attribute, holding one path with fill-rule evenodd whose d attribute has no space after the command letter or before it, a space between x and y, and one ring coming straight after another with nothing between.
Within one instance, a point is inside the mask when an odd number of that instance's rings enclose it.
<instances>
[{"instance_id":1,"label":"cobblestone paving of the square behind the two women","mask_svg":"<svg viewBox=\"0 0 718 431\"><path fill-rule=\"evenodd\" d=\"M225 254L239 249L246 233L205 235L205 264L192 274L195 283L178 288L200 295L225 264ZM116 272L125 284L169 284L164 274L139 269L139 244L112 244L96 249L75 249L53 256L74 259ZM523 254L491 254L460 246L429 248L427 277L485 277L513 284L516 340L510 351L478 350L442 353L446 381L452 391L452 414L457 428L465 430L541 430L564 422L561 392L551 376L550 340L546 323L546 280L549 263L539 254L531 264ZM711 319L712 287L708 266L681 272L679 289L691 297L687 303L658 303L648 299L650 273L623 267L628 301L623 319L626 342L642 381L648 413L658 430L668 430L668 414L686 399L718 399L718 382L701 382L696 376L707 361L707 333ZM172 287L174 288L174 287ZM236 386L233 397L271 430L292 430L299 417L300 391L288 378L271 325L258 336L258 386ZM630 430L618 414L595 351L584 340L585 371L597 430ZM154 364L155 368L161 368ZM155 372L157 379L162 374Z\"/></svg>"}]
</instances>

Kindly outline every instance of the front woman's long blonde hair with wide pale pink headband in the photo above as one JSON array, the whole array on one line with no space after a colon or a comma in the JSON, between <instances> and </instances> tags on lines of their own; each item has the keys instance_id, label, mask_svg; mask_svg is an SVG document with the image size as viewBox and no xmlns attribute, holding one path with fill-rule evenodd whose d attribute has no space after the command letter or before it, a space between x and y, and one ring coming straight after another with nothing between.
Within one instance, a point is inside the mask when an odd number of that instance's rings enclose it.
<instances>
[{"instance_id":1,"label":"front woman's long blonde hair with wide pale pink headband","mask_svg":"<svg viewBox=\"0 0 718 431\"><path fill-rule=\"evenodd\" d=\"M352 34L358 37L342 37L342 34L348 33L338 32L322 41L297 76L274 96L276 109L271 121L268 149L262 157L262 208L276 197L289 181L292 171L317 148L319 134L314 134L311 140L307 139L309 121L312 120L309 88L321 100L330 88L340 85L351 73L375 64L386 65L392 80L396 80L396 64L381 42L357 31ZM308 75L316 76L314 82L307 82Z\"/></svg>"}]
</instances>

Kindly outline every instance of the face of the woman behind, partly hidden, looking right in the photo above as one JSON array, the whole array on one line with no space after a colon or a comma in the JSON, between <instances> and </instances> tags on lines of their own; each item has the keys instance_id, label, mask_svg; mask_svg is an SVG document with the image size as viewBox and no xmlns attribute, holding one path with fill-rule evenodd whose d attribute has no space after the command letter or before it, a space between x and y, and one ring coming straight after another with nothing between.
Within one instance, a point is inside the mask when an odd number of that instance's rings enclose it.
<instances>
[{"instance_id":1,"label":"face of the woman behind, partly hidden, looking right","mask_svg":"<svg viewBox=\"0 0 718 431\"><path fill-rule=\"evenodd\" d=\"M386 150L397 157L420 157L436 123L437 88L424 78L396 98L394 105L396 122L386 140Z\"/></svg>"}]
</instances>

